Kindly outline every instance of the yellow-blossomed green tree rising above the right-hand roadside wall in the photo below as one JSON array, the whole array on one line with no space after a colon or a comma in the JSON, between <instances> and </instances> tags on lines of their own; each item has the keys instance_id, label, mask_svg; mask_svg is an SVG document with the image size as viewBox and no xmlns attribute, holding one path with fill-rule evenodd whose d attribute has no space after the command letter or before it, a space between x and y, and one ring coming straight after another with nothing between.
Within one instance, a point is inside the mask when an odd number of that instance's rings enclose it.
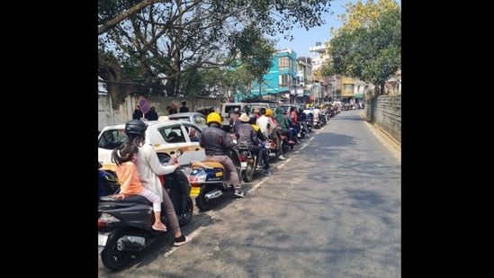
<instances>
[{"instance_id":1,"label":"yellow-blossomed green tree rising above the right-hand roadside wall","mask_svg":"<svg viewBox=\"0 0 494 278\"><path fill-rule=\"evenodd\" d=\"M346 4L348 16L334 32L321 69L324 76L343 75L371 82L383 94L386 81L401 68L401 9L391 0Z\"/></svg>"}]
</instances>

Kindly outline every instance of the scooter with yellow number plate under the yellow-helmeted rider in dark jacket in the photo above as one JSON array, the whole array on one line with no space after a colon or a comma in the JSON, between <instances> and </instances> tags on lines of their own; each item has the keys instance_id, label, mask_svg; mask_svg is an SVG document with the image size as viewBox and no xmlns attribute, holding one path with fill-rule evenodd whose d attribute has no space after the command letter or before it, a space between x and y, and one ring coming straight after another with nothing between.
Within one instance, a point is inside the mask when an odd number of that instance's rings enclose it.
<instances>
[{"instance_id":1,"label":"scooter with yellow number plate under the yellow-helmeted rider in dark jacket","mask_svg":"<svg viewBox=\"0 0 494 278\"><path fill-rule=\"evenodd\" d=\"M236 148L231 149L229 157L237 168L238 176L241 175L241 163ZM191 171L188 175L192 190L199 190L195 198L195 205L201 211L209 211L214 206L216 199L233 190L233 184L229 180L229 173L220 162L192 161L189 163Z\"/></svg>"}]
</instances>

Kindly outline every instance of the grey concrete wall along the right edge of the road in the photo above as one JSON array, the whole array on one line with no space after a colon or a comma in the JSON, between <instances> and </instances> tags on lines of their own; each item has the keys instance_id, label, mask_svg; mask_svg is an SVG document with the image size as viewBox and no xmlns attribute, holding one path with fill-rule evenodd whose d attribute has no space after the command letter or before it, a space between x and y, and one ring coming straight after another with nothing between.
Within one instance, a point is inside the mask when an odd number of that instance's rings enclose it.
<instances>
[{"instance_id":1,"label":"grey concrete wall along the right edge of the road","mask_svg":"<svg viewBox=\"0 0 494 278\"><path fill-rule=\"evenodd\" d=\"M401 143L401 94L379 95L365 100L366 120Z\"/></svg>"}]
</instances>

